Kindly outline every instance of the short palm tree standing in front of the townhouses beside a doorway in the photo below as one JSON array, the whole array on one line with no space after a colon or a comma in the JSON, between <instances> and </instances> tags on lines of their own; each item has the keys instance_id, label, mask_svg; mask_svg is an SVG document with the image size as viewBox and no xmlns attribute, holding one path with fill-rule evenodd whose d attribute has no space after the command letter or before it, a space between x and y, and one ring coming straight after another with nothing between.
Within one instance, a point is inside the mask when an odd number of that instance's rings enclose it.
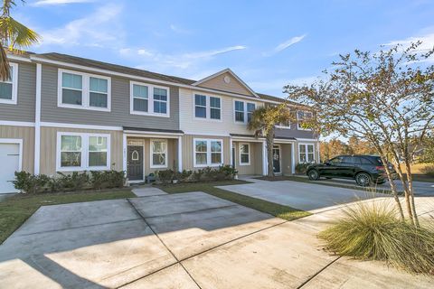
<instances>
[{"instance_id":1,"label":"short palm tree standing in front of the townhouses beside a doorway","mask_svg":"<svg viewBox=\"0 0 434 289\"><path fill-rule=\"evenodd\" d=\"M291 119L287 103L278 106L258 107L251 115L248 128L255 131L255 136L264 135L267 143L268 176L274 177L273 145L274 128Z\"/></svg>"}]
</instances>

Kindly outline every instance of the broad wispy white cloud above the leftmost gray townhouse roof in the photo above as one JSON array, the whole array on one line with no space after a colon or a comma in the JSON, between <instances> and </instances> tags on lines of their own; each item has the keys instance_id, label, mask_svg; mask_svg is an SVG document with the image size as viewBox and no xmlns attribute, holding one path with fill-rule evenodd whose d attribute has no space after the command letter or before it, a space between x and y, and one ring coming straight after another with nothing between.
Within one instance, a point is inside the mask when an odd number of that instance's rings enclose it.
<instances>
[{"instance_id":1,"label":"broad wispy white cloud above the leftmost gray townhouse roof","mask_svg":"<svg viewBox=\"0 0 434 289\"><path fill-rule=\"evenodd\" d=\"M43 45L111 46L124 34L118 17L121 5L104 5L94 13L66 23L63 27L42 31Z\"/></svg>"}]
</instances>

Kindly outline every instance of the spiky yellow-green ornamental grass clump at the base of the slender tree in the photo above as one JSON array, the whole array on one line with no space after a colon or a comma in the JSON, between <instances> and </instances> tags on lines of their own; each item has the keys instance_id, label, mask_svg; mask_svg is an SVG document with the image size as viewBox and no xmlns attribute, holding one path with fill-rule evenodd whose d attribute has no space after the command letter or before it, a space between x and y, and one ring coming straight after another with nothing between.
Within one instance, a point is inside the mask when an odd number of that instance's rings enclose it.
<instances>
[{"instance_id":1,"label":"spiky yellow-green ornamental grass clump at the base of the slender tree","mask_svg":"<svg viewBox=\"0 0 434 289\"><path fill-rule=\"evenodd\" d=\"M382 260L410 273L434 274L434 229L401 221L393 208L381 201L346 207L344 218L319 238L339 256Z\"/></svg>"}]
</instances>

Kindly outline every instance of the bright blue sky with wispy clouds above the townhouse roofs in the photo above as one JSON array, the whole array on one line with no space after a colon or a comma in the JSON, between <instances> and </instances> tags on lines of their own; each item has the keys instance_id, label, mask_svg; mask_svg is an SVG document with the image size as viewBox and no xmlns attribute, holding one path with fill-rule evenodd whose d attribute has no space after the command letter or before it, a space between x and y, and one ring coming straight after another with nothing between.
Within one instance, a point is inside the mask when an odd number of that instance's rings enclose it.
<instances>
[{"instance_id":1,"label":"bright blue sky with wispy clouds above the townhouse roofs","mask_svg":"<svg viewBox=\"0 0 434 289\"><path fill-rule=\"evenodd\" d=\"M187 79L230 68L285 97L339 54L417 39L434 46L432 0L26 0L12 15L60 52Z\"/></svg>"}]
</instances>

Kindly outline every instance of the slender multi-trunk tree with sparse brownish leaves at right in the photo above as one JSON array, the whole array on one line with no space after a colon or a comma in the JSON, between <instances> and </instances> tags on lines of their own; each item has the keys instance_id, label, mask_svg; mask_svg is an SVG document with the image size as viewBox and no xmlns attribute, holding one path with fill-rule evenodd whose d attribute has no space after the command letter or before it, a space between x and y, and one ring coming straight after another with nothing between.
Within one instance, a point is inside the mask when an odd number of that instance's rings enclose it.
<instances>
[{"instance_id":1,"label":"slender multi-trunk tree with sparse brownish leaves at right","mask_svg":"<svg viewBox=\"0 0 434 289\"><path fill-rule=\"evenodd\" d=\"M420 42L377 52L340 55L334 70L310 86L286 87L288 98L316 107L309 126L322 134L338 133L367 140L382 158L397 207L404 218L389 161L402 183L406 212L419 226L411 178L411 140L422 142L434 124L433 51ZM428 64L427 64L428 63ZM403 164L402 167L400 164Z\"/></svg>"}]
</instances>

